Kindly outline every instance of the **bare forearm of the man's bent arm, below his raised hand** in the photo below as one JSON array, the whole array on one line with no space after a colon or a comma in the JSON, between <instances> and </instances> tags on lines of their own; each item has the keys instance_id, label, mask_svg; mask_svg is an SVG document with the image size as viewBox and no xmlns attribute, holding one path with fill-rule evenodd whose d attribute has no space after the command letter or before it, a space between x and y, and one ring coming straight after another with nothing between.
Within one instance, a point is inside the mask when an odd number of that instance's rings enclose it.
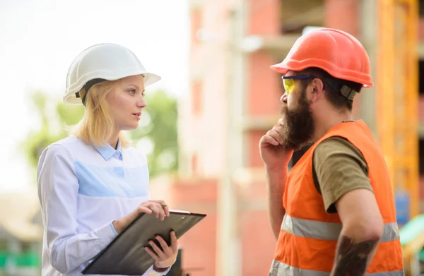
<instances>
[{"instance_id":1,"label":"bare forearm of the man's bent arm, below his raised hand","mask_svg":"<svg viewBox=\"0 0 424 276\"><path fill-rule=\"evenodd\" d=\"M272 231L276 239L280 234L281 222L285 210L283 208L284 185L287 181L287 169L280 169L278 172L266 171L266 193L268 196L268 215Z\"/></svg>"}]
</instances>

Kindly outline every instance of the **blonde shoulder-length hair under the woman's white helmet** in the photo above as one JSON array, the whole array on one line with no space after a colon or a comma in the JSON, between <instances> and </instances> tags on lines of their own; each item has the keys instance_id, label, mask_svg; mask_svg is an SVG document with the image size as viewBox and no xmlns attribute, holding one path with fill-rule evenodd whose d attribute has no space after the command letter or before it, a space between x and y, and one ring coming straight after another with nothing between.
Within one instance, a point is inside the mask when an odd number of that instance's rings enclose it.
<instances>
[{"instance_id":1,"label":"blonde shoulder-length hair under the woman's white helmet","mask_svg":"<svg viewBox=\"0 0 424 276\"><path fill-rule=\"evenodd\" d=\"M110 114L106 96L118 82L119 80L105 80L93 85L88 90L83 119L71 128L71 134L90 145L106 145L106 141L114 134L115 130L115 121ZM82 99L86 95L86 88L82 88L79 95ZM122 131L119 132L119 140L123 148L130 145Z\"/></svg>"}]
</instances>

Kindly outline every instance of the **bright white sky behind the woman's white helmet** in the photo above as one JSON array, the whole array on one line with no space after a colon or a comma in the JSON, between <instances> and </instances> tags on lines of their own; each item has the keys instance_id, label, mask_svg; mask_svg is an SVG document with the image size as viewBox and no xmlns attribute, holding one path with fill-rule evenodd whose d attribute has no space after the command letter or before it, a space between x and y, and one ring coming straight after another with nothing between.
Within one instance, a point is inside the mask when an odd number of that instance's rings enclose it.
<instances>
[{"instance_id":1,"label":"bright white sky behind the woman's white helmet","mask_svg":"<svg viewBox=\"0 0 424 276\"><path fill-rule=\"evenodd\" d=\"M31 93L61 100L73 59L93 44L131 49L162 77L149 90L188 89L188 0L0 0L0 192L35 186L20 149L40 126Z\"/></svg>"}]
</instances>

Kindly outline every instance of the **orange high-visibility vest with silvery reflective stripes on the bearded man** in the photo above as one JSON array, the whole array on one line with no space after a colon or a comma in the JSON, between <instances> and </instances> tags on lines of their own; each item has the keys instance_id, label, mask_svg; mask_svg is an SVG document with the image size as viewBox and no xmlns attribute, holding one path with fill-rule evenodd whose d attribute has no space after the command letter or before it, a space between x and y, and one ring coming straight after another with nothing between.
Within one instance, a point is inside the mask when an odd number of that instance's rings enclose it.
<instances>
[{"instance_id":1,"label":"orange high-visibility vest with silvery reflective stripes on the bearded man","mask_svg":"<svg viewBox=\"0 0 424 276\"><path fill-rule=\"evenodd\" d=\"M326 276L333 268L342 224L337 213L326 213L322 196L314 186L312 177L314 148L322 140L333 136L346 138L362 152L384 220L384 233L367 274L403 276L404 265L389 172L379 146L363 121L341 123L331 128L291 170L285 184L285 215L270 275Z\"/></svg>"}]
</instances>

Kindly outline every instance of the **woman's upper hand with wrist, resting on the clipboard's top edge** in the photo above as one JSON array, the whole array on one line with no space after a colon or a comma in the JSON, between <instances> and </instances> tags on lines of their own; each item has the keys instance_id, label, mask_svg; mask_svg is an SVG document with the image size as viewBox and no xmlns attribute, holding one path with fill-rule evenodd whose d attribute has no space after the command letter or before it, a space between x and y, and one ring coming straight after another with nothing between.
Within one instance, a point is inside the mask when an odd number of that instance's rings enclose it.
<instances>
[{"instance_id":1,"label":"woman's upper hand with wrist, resting on the clipboard's top edge","mask_svg":"<svg viewBox=\"0 0 424 276\"><path fill-rule=\"evenodd\" d=\"M119 234L125 227L127 227L132 221L136 219L142 212L146 214L155 214L156 218L163 220L170 216L170 210L164 200L147 200L139 205L136 210L129 213L125 217L121 217L119 220L112 222L115 231Z\"/></svg>"}]
</instances>

